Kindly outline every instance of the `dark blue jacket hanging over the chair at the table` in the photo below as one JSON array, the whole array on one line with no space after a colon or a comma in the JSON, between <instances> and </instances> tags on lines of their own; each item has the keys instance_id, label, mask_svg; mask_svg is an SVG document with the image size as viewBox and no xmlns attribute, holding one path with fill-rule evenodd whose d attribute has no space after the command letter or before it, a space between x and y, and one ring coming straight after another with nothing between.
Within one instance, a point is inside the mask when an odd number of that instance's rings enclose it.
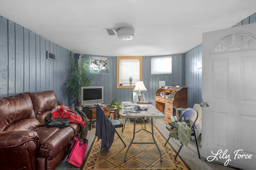
<instances>
[{"instance_id":1,"label":"dark blue jacket hanging over the chair at the table","mask_svg":"<svg viewBox=\"0 0 256 170\"><path fill-rule=\"evenodd\" d=\"M96 107L96 132L95 136L101 140L101 150L100 152L106 152L111 147L114 141L114 135L116 128L108 119L108 116L104 112L104 109L97 104Z\"/></svg>"}]
</instances>

